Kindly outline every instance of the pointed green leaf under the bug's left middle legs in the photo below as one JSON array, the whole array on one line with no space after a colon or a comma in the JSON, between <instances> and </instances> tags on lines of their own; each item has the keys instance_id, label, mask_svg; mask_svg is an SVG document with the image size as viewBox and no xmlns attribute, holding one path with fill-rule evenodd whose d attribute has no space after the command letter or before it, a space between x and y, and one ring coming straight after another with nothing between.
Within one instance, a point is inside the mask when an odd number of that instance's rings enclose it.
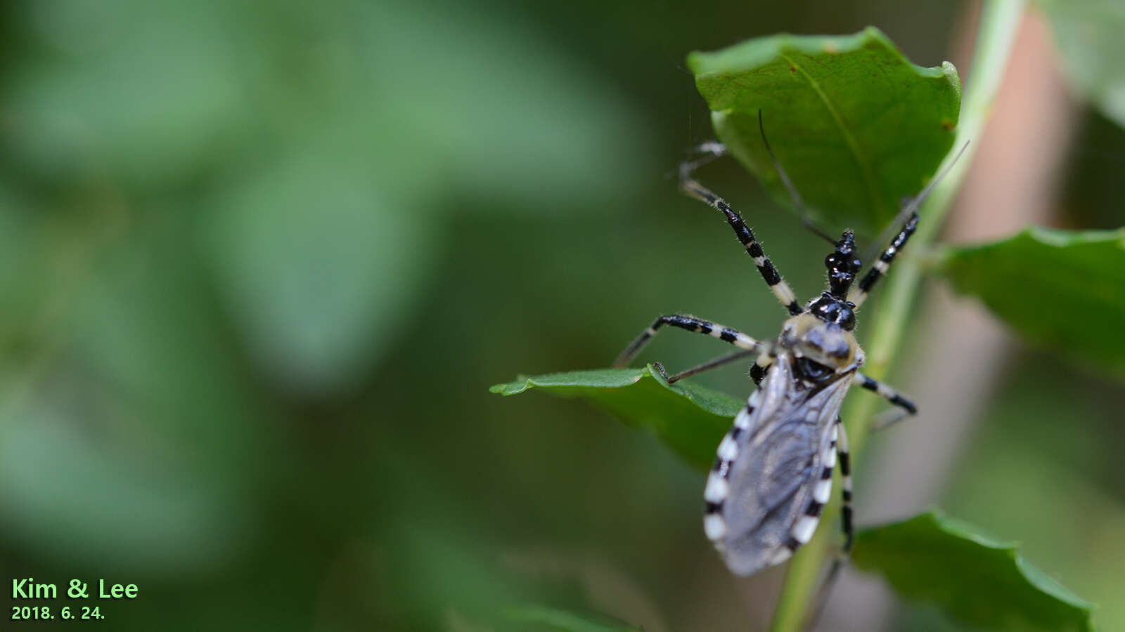
<instances>
[{"instance_id":1,"label":"pointed green leaf under the bug's left middle legs","mask_svg":"<svg viewBox=\"0 0 1125 632\"><path fill-rule=\"evenodd\" d=\"M644 369L596 369L529 378L489 390L516 395L530 388L557 397L582 397L622 422L652 432L690 463L706 470L714 449L744 404L729 395L680 381L669 385Z\"/></svg>"}]
</instances>

